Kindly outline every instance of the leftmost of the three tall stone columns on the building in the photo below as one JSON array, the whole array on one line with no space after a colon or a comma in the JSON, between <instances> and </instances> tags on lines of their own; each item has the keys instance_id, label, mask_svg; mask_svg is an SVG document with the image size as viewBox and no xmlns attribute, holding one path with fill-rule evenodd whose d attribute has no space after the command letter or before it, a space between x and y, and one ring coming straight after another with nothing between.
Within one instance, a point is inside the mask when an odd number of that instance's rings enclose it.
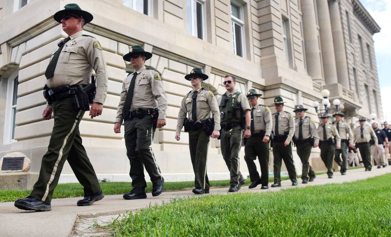
<instances>
[{"instance_id":1,"label":"leftmost of the three tall stone columns on the building","mask_svg":"<svg viewBox=\"0 0 391 237\"><path fill-rule=\"evenodd\" d=\"M303 13L303 35L307 72L315 82L325 83L319 55L318 28L315 19L314 1L301 0L301 6Z\"/></svg>"}]
</instances>

